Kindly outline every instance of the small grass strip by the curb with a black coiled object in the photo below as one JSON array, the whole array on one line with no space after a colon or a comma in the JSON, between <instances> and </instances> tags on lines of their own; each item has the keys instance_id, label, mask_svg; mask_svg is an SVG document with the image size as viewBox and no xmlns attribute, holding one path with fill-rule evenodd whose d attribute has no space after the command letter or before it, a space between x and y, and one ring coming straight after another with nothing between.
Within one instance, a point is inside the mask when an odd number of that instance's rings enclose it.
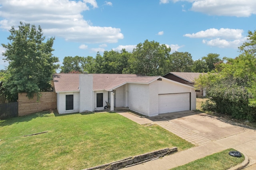
<instances>
[{"instance_id":1,"label":"small grass strip by the curb with a black coiled object","mask_svg":"<svg viewBox=\"0 0 256 170\"><path fill-rule=\"evenodd\" d=\"M171 170L228 170L244 161L244 155L240 158L230 156L228 152L232 150L235 149L226 149Z\"/></svg>"}]
</instances>

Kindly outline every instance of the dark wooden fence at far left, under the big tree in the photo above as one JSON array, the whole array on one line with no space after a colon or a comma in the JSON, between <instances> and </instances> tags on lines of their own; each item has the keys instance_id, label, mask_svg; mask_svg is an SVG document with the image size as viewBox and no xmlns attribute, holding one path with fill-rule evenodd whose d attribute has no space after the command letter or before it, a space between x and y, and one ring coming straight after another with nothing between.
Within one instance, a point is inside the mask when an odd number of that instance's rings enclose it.
<instances>
[{"instance_id":1,"label":"dark wooden fence at far left, under the big tree","mask_svg":"<svg viewBox=\"0 0 256 170\"><path fill-rule=\"evenodd\" d=\"M0 104L0 119L18 116L18 102Z\"/></svg>"}]
</instances>

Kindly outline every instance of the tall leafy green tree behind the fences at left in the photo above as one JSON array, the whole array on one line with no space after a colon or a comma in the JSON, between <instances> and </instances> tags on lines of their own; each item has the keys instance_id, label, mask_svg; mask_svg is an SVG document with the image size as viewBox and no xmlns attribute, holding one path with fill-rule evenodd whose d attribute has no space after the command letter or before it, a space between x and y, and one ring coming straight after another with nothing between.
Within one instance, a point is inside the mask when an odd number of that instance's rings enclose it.
<instances>
[{"instance_id":1,"label":"tall leafy green tree behind the fences at left","mask_svg":"<svg viewBox=\"0 0 256 170\"><path fill-rule=\"evenodd\" d=\"M52 74L59 67L58 58L52 55L54 37L44 42L42 28L20 22L19 29L9 30L10 42L2 44L3 56L9 62L8 77L4 80L4 93L9 100L17 100L18 93L26 92L29 98L50 89Z\"/></svg>"}]
</instances>

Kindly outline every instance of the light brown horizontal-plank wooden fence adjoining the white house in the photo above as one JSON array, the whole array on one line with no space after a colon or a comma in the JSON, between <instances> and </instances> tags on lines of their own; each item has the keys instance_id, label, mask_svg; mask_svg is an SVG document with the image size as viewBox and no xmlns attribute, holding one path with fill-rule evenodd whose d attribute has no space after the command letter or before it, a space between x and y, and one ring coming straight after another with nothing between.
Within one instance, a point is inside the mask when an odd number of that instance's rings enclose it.
<instances>
[{"instance_id":1,"label":"light brown horizontal-plank wooden fence adjoining the white house","mask_svg":"<svg viewBox=\"0 0 256 170\"><path fill-rule=\"evenodd\" d=\"M57 94L55 92L42 92L42 97L37 102L36 96L29 99L26 93L18 94L18 115L29 115L43 110L57 108Z\"/></svg>"}]
</instances>

